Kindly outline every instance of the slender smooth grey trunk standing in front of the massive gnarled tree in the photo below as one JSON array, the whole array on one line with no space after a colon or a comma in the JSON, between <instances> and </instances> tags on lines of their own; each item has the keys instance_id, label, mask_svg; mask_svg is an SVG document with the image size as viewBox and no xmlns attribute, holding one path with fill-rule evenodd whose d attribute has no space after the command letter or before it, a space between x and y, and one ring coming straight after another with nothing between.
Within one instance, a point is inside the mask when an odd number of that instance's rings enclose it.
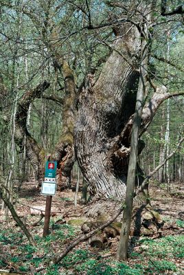
<instances>
[{"instance_id":1,"label":"slender smooth grey trunk standing in front of the massive gnarled tree","mask_svg":"<svg viewBox=\"0 0 184 275\"><path fill-rule=\"evenodd\" d=\"M125 208L122 221L122 229L120 233L119 244L117 248L117 260L122 261L128 257L128 240L130 235L130 224L133 211L133 198L135 192L135 173L137 167L137 155L139 146L139 130L141 126L141 116L143 112L144 95L148 86L148 51L149 51L149 34L148 22L150 21L151 6L148 5L145 9L146 22L141 25L141 61L140 61L140 76L139 86L137 89L137 99L135 105L135 115L130 142L130 159L128 163L128 176L126 184Z\"/></svg>"}]
</instances>

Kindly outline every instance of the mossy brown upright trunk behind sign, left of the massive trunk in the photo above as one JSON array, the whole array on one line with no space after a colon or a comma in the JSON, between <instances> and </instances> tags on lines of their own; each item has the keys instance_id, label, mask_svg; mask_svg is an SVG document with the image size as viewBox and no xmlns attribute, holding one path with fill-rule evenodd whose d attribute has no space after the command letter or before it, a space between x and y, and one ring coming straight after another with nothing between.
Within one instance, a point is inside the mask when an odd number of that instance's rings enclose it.
<instances>
[{"instance_id":1,"label":"mossy brown upright trunk behind sign, left of the massive trunk","mask_svg":"<svg viewBox=\"0 0 184 275\"><path fill-rule=\"evenodd\" d=\"M49 10L47 10L49 14ZM45 26L47 30L47 26ZM57 43L45 44L49 52L54 56L54 67L62 72L65 81L65 98L63 98L62 109L62 134L60 140L52 153L52 159L58 162L58 184L61 188L68 188L71 184L71 169L76 160L73 146L73 124L75 120L75 100L76 100L76 82L73 71L66 58L62 56L62 43L60 42L60 34L57 28L51 31L51 39Z\"/></svg>"}]
</instances>

